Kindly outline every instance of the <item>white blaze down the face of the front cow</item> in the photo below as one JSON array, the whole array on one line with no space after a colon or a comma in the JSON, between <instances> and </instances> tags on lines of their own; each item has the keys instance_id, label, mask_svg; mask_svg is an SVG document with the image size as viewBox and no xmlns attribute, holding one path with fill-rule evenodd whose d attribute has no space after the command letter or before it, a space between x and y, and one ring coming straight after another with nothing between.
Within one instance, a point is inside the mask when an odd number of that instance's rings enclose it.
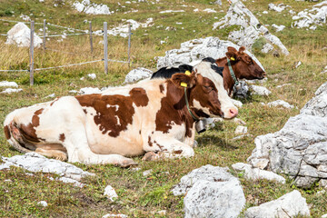
<instances>
[{"instance_id":1,"label":"white blaze down the face of the front cow","mask_svg":"<svg viewBox=\"0 0 327 218\"><path fill-rule=\"evenodd\" d=\"M194 71L213 81L213 84L218 90L218 100L221 104L223 114L229 114L230 109L235 109L237 111L231 97L228 96L227 91L223 88L223 77L213 71L211 68L211 63L201 62L200 64L194 66Z\"/></svg>"}]
</instances>

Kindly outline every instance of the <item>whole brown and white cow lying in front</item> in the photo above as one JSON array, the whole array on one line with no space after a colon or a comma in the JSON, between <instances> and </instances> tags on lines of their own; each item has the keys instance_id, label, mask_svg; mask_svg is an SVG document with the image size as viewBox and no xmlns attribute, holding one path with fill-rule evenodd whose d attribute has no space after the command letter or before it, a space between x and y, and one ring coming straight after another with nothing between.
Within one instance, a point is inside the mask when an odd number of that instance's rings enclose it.
<instances>
[{"instance_id":1,"label":"whole brown and white cow lying in front","mask_svg":"<svg viewBox=\"0 0 327 218\"><path fill-rule=\"evenodd\" d=\"M171 79L17 109L5 118L5 137L20 152L73 163L128 166L134 164L128 157L147 152L191 157L193 116L237 115L223 89L223 78L212 79L210 69L199 64L190 75L174 74Z\"/></svg>"}]
</instances>

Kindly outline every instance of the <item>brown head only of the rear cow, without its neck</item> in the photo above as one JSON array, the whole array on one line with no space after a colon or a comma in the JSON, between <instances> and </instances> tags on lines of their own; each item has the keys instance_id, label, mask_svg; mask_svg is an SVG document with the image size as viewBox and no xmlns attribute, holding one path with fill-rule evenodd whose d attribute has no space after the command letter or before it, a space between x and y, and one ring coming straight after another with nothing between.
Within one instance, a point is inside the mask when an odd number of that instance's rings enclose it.
<instances>
[{"instance_id":1,"label":"brown head only of the rear cow, without its neck","mask_svg":"<svg viewBox=\"0 0 327 218\"><path fill-rule=\"evenodd\" d=\"M244 53L245 47L240 47L237 51L234 47L227 48L226 56L234 66L234 73L238 79L263 79L266 73L255 63L249 54Z\"/></svg>"}]
</instances>

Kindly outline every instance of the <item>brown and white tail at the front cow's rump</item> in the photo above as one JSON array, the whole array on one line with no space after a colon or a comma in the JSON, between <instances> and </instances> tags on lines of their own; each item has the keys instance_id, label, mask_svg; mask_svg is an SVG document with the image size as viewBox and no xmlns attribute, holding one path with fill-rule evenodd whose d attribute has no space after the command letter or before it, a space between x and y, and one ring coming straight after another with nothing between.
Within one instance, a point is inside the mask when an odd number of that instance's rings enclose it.
<instances>
[{"instance_id":1,"label":"brown and white tail at the front cow's rump","mask_svg":"<svg viewBox=\"0 0 327 218\"><path fill-rule=\"evenodd\" d=\"M12 145L15 150L21 153L30 153L31 150L28 150L23 145L24 142L24 136L20 133L18 127L14 123L14 121L6 122L5 120L5 137L10 145ZM22 145L23 144L23 145Z\"/></svg>"}]
</instances>

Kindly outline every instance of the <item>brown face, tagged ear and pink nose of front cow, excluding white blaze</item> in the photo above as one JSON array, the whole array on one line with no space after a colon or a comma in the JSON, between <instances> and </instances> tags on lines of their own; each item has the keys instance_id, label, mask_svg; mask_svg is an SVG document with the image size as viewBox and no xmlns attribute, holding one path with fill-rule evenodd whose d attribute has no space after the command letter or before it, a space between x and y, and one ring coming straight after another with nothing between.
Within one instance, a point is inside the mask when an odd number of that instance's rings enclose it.
<instances>
[{"instance_id":1,"label":"brown face, tagged ear and pink nose of front cow, excluding white blaze","mask_svg":"<svg viewBox=\"0 0 327 218\"><path fill-rule=\"evenodd\" d=\"M225 116L219 101L218 89L211 79L193 72L190 75L173 74L172 81L177 87L187 89L190 108L199 116ZM227 113L228 118L236 115L237 109L231 108L231 111Z\"/></svg>"}]
</instances>

